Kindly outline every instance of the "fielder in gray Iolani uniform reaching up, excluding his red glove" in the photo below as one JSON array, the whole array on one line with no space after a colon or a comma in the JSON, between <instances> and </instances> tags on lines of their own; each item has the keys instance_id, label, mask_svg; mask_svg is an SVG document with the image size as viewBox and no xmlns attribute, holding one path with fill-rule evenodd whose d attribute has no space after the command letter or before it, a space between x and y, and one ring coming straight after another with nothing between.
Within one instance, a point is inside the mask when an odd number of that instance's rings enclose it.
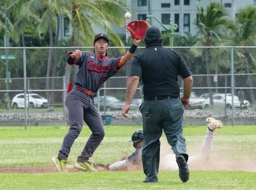
<instances>
[{"instance_id":1,"label":"fielder in gray Iolani uniform reaching up, excluding his red glove","mask_svg":"<svg viewBox=\"0 0 256 190\"><path fill-rule=\"evenodd\" d=\"M67 172L70 148L81 132L84 121L92 134L81 155L77 157L74 168L82 171L97 171L88 160L100 145L105 132L102 118L94 103L94 96L103 83L131 59L140 41L141 39L135 38L124 56L108 59L108 36L100 33L94 38L94 52L75 50L68 53L67 63L79 65L79 70L76 74L75 86L68 93L65 102L68 108L70 128L63 139L58 155L51 159L59 172Z\"/></svg>"}]
</instances>

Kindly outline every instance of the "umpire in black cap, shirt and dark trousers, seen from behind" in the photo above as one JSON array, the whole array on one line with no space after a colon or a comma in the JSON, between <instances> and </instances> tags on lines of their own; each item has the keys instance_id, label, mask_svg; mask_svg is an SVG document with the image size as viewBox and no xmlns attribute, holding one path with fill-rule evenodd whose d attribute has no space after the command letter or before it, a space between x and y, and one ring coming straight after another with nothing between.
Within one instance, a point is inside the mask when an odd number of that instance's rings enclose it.
<instances>
[{"instance_id":1,"label":"umpire in black cap, shirt and dark trousers, seen from behind","mask_svg":"<svg viewBox=\"0 0 256 190\"><path fill-rule=\"evenodd\" d=\"M158 182L159 138L163 130L176 155L180 179L186 182L189 170L183 137L183 112L184 106L189 104L192 73L178 52L162 46L163 38L157 27L148 28L143 40L146 48L136 54L131 62L123 116L128 117L130 102L140 83L140 93L144 99L140 106L144 135L142 164L147 175L143 182ZM181 98L178 76L184 81L184 95Z\"/></svg>"}]
</instances>

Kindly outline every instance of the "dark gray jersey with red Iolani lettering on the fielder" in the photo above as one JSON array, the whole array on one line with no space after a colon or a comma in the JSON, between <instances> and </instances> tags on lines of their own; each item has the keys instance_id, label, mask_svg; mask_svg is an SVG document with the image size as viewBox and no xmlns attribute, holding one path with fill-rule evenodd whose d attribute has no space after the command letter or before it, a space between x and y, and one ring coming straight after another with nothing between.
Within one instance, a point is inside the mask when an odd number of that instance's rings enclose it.
<instances>
[{"instance_id":1,"label":"dark gray jersey with red Iolani lettering on the fielder","mask_svg":"<svg viewBox=\"0 0 256 190\"><path fill-rule=\"evenodd\" d=\"M74 63L68 63L69 65L79 65L75 84L96 93L108 78L121 69L117 66L121 57L108 59L107 56L100 58L94 52L81 52L82 56L75 58ZM68 55L72 53L69 52Z\"/></svg>"}]
</instances>

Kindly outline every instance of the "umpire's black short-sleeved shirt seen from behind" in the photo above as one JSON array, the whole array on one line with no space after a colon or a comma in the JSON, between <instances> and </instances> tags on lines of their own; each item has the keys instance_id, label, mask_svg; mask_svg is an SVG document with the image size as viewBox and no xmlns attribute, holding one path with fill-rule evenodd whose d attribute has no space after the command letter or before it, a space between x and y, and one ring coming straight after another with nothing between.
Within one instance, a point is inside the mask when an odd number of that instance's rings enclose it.
<instances>
[{"instance_id":1,"label":"umpire's black short-sleeved shirt seen from behind","mask_svg":"<svg viewBox=\"0 0 256 190\"><path fill-rule=\"evenodd\" d=\"M149 97L179 96L178 76L185 79L191 75L180 53L153 44L133 57L129 77L138 76L141 97Z\"/></svg>"}]
</instances>

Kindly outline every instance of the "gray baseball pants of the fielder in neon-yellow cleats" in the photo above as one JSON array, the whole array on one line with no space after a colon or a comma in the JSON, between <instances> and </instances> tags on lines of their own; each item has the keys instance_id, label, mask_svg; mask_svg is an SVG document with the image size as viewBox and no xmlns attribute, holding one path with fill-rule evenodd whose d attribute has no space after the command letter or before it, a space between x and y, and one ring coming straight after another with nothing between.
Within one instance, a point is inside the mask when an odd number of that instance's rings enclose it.
<instances>
[{"instance_id":1,"label":"gray baseball pants of the fielder in neon-yellow cleats","mask_svg":"<svg viewBox=\"0 0 256 190\"><path fill-rule=\"evenodd\" d=\"M95 106L94 98L79 91L78 86L75 86L72 91L68 93L65 104L68 108L70 128L59 150L59 159L68 159L70 148L74 140L80 134L85 121L92 131L92 134L76 161L87 162L89 158L92 157L93 152L100 145L105 135L102 118Z\"/></svg>"}]
</instances>

